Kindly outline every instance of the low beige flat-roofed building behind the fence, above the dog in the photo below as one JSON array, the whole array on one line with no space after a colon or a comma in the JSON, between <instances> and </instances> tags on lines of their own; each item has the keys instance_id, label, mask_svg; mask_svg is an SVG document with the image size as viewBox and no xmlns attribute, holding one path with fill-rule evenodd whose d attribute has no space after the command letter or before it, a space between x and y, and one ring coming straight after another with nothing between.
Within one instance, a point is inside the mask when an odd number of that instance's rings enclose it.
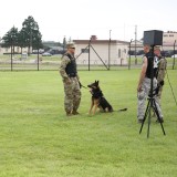
<instances>
[{"instance_id":1,"label":"low beige flat-roofed building behind the fence, above the dog","mask_svg":"<svg viewBox=\"0 0 177 177\"><path fill-rule=\"evenodd\" d=\"M128 42L118 40L73 40L76 45L77 64L124 65L127 64Z\"/></svg>"}]
</instances>

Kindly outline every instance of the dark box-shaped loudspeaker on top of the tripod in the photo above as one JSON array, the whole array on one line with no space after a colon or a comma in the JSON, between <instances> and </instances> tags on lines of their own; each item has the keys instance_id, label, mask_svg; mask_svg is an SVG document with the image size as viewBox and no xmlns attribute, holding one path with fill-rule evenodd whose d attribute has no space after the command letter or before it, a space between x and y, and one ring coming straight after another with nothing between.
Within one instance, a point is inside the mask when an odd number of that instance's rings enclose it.
<instances>
[{"instance_id":1,"label":"dark box-shaped loudspeaker on top of the tripod","mask_svg":"<svg viewBox=\"0 0 177 177\"><path fill-rule=\"evenodd\" d=\"M144 44L163 45L163 31L144 31Z\"/></svg>"}]
</instances>

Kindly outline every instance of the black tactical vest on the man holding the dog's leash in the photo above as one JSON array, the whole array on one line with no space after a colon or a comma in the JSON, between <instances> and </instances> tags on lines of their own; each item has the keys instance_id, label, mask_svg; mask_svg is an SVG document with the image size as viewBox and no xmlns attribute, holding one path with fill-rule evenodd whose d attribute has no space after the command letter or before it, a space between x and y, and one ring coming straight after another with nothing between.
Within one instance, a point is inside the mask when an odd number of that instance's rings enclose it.
<instances>
[{"instance_id":1,"label":"black tactical vest on the man holding the dog's leash","mask_svg":"<svg viewBox=\"0 0 177 177\"><path fill-rule=\"evenodd\" d=\"M64 55L66 55L70 59L70 63L65 67L66 74L69 76L71 76L71 77L76 76L76 62L75 62L75 58L72 56L70 53L65 53Z\"/></svg>"}]
</instances>

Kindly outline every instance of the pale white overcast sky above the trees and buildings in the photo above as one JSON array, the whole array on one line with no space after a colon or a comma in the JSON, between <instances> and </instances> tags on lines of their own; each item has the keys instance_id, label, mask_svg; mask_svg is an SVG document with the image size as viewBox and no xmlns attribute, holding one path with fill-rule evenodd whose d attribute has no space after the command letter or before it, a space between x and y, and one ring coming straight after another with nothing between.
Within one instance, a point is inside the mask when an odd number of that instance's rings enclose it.
<instances>
[{"instance_id":1,"label":"pale white overcast sky above the trees and buildings","mask_svg":"<svg viewBox=\"0 0 177 177\"><path fill-rule=\"evenodd\" d=\"M143 38L146 30L177 31L177 0L2 0L0 37L32 15L43 41ZM111 32L110 32L111 30Z\"/></svg>"}]
</instances>

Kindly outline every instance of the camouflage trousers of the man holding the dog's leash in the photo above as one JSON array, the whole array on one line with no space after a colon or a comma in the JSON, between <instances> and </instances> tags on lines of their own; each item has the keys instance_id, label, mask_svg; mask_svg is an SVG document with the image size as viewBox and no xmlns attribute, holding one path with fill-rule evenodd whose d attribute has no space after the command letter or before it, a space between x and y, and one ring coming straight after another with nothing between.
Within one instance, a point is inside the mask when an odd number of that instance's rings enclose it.
<instances>
[{"instance_id":1,"label":"camouflage trousers of the man holding the dog's leash","mask_svg":"<svg viewBox=\"0 0 177 177\"><path fill-rule=\"evenodd\" d=\"M71 83L64 84L64 110L65 112L77 111L81 102L80 84L76 77L71 77Z\"/></svg>"}]
</instances>

